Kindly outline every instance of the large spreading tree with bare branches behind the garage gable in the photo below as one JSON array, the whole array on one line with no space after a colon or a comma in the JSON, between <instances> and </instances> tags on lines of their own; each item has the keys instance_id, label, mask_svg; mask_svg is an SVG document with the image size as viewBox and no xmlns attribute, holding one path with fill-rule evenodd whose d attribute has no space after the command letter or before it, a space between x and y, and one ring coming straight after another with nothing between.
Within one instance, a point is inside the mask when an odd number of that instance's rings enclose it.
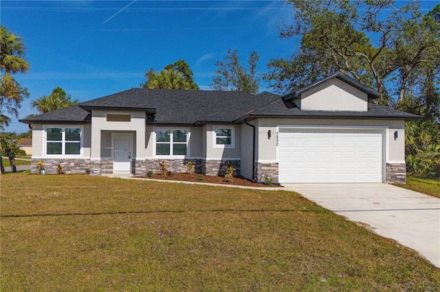
<instances>
[{"instance_id":1,"label":"large spreading tree with bare branches behind the garage gable","mask_svg":"<svg viewBox=\"0 0 440 292\"><path fill-rule=\"evenodd\" d=\"M284 25L281 36L300 36L301 42L289 60L272 58L267 64L270 73L265 80L278 92L341 71L375 87L382 104L399 104L412 74L440 58L436 29L423 21L417 3L398 9L391 0L289 3L295 11L294 23ZM358 10L361 6L363 12ZM391 12L385 17L387 9Z\"/></svg>"}]
</instances>

